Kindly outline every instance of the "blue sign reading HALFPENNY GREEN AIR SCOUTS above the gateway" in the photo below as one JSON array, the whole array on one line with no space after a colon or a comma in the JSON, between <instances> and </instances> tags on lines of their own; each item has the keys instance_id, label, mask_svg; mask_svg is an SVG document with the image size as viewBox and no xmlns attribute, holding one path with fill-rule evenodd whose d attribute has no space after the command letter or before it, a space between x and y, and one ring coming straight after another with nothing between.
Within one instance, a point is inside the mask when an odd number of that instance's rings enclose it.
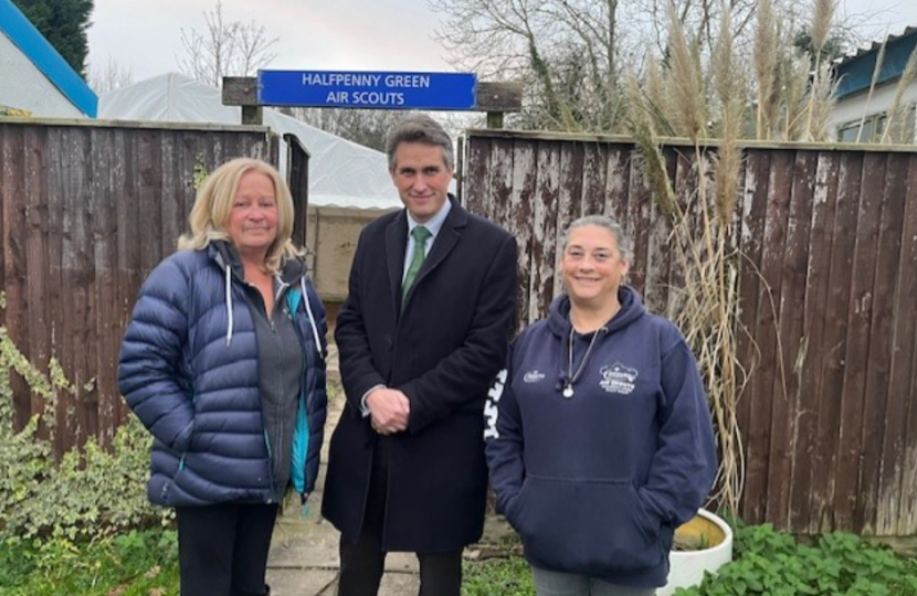
<instances>
[{"instance_id":1,"label":"blue sign reading HALFPENNY GREEN AIR SCOUTS above the gateway","mask_svg":"<svg viewBox=\"0 0 917 596\"><path fill-rule=\"evenodd\" d=\"M262 106L471 110L477 77L470 73L259 71Z\"/></svg>"}]
</instances>

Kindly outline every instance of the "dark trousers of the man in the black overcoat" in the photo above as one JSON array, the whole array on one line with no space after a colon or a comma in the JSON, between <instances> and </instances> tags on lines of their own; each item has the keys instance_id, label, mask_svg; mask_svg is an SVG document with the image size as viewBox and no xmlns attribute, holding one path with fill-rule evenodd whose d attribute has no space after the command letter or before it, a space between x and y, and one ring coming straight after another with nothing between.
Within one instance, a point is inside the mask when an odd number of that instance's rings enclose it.
<instances>
[{"instance_id":1,"label":"dark trousers of the man in the black overcoat","mask_svg":"<svg viewBox=\"0 0 917 596\"><path fill-rule=\"evenodd\" d=\"M389 439L380 438L372 459L372 476L363 526L354 542L340 536L338 596L377 596L386 567L382 528L386 519ZM420 562L419 596L460 596L462 551L417 553Z\"/></svg>"}]
</instances>

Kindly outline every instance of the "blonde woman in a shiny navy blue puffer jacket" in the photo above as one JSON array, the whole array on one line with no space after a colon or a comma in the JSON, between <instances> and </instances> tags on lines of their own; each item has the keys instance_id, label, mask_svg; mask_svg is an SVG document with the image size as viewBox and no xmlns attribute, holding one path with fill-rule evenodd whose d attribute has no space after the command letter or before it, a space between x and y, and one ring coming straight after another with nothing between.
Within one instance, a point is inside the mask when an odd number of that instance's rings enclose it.
<instances>
[{"instance_id":1,"label":"blonde woman in a shiny navy blue puffer jacket","mask_svg":"<svg viewBox=\"0 0 917 596\"><path fill-rule=\"evenodd\" d=\"M182 596L261 596L277 505L318 475L325 313L255 159L218 168L191 232L140 289L118 386L152 434L150 501L175 507Z\"/></svg>"}]
</instances>

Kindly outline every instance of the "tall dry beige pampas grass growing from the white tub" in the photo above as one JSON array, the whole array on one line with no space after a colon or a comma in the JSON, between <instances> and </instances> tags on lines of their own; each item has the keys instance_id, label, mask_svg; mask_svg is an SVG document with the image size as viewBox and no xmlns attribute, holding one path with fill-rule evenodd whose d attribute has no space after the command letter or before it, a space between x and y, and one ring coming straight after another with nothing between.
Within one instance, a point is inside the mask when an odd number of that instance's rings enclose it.
<instances>
[{"instance_id":1,"label":"tall dry beige pampas grass growing from the white tub","mask_svg":"<svg viewBox=\"0 0 917 596\"><path fill-rule=\"evenodd\" d=\"M643 93L635 76L631 76L626 85L629 123L644 160L646 183L661 212L670 220L672 237L668 245L684 275L684 284L677 289L679 307L674 316L694 349L716 427L720 467L712 500L736 513L745 479L745 457L736 417L745 374L736 355L738 254L731 230L742 169L738 139L746 118L747 89L735 72L728 6L724 4L708 77L704 76L695 45L688 42L672 8L668 15L671 62L663 73L673 106L668 116L674 130L694 145L696 190L688 193L686 203L679 201L665 170L665 158L656 136L658 115L653 109L653 100ZM710 82L713 93L705 88L705 79ZM716 120L715 126L708 123L710 117ZM707 147L707 139L713 134L719 137L716 151Z\"/></svg>"}]
</instances>

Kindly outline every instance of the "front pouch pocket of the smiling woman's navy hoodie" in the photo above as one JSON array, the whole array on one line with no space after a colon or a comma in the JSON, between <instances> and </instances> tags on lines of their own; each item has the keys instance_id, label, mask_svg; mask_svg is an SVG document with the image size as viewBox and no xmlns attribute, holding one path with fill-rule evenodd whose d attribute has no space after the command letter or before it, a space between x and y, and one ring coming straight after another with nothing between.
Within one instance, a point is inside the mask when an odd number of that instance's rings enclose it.
<instances>
[{"instance_id":1,"label":"front pouch pocket of the smiling woman's navy hoodie","mask_svg":"<svg viewBox=\"0 0 917 596\"><path fill-rule=\"evenodd\" d=\"M529 476L509 520L526 554L549 568L598 575L661 565L657 532L630 480L565 480Z\"/></svg>"}]
</instances>

